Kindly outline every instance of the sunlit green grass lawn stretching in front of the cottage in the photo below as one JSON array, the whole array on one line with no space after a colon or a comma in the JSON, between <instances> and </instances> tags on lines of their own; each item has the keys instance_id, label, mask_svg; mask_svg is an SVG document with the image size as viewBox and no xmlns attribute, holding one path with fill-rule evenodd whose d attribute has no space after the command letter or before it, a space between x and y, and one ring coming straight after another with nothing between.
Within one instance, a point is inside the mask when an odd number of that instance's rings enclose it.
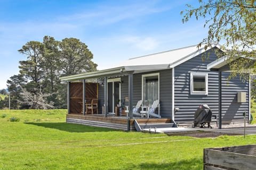
<instances>
[{"instance_id":1,"label":"sunlit green grass lawn stretching in front of the cottage","mask_svg":"<svg viewBox=\"0 0 256 170\"><path fill-rule=\"evenodd\" d=\"M66 112L0 111L0 169L203 169L203 148L256 140L256 135L197 139L92 128L66 124ZM13 116L20 122L10 122Z\"/></svg>"}]
</instances>

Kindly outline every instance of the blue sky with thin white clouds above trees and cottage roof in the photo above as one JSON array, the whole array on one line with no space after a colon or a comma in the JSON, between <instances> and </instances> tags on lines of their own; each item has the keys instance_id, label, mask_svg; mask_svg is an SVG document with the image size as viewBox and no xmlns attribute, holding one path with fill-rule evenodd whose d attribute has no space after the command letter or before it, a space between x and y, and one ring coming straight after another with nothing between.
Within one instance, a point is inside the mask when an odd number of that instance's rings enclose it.
<instances>
[{"instance_id":1,"label":"blue sky with thin white clouds above trees and cottage roof","mask_svg":"<svg viewBox=\"0 0 256 170\"><path fill-rule=\"evenodd\" d=\"M203 21L182 24L183 1L0 0L0 89L19 73L18 53L28 41L78 38L94 55L98 69L165 50L198 44L207 33Z\"/></svg>"}]
</instances>

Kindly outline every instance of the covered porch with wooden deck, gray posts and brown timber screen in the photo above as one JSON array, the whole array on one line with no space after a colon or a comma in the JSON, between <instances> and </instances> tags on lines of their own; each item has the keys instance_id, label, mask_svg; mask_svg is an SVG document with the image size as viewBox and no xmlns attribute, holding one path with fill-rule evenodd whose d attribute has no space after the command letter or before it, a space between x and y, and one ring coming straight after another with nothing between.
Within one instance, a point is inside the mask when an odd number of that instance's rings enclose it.
<instances>
[{"instance_id":1,"label":"covered porch with wooden deck, gray posts and brown timber screen","mask_svg":"<svg viewBox=\"0 0 256 170\"><path fill-rule=\"evenodd\" d=\"M158 73L152 73L155 69L156 68L152 66L139 68L117 67L115 69L61 78L62 80L68 81L68 114L66 122L127 131L138 130L136 129L138 126L139 129L141 127L146 128L144 124L171 123L171 109L169 116L161 116L162 108L160 104L157 104L155 110L156 116L147 118L146 114L144 116L137 115L137 117L132 114L133 107L139 100L148 102L143 103L140 107L142 111L146 111L152 106L154 100L159 101L159 99L161 99L159 96L159 70L157 71ZM169 68L165 65L159 67L159 69L164 70ZM169 71L170 70L171 69L169 69ZM134 74L140 77L140 87L136 86L138 82L134 82L134 80L136 81L138 79L137 77L134 79ZM150 96L150 101L148 101L149 97L146 98L147 92L144 90L144 95L143 92L141 92L143 91L143 87L146 87L146 82L150 82L151 86L154 86L151 88L154 94ZM92 92L94 92L94 94ZM74 94L76 95L74 96ZM91 102L91 99L98 100L96 106L98 112L87 112L88 103ZM168 125L173 126L173 124ZM152 126L156 128L156 125Z\"/></svg>"}]
</instances>

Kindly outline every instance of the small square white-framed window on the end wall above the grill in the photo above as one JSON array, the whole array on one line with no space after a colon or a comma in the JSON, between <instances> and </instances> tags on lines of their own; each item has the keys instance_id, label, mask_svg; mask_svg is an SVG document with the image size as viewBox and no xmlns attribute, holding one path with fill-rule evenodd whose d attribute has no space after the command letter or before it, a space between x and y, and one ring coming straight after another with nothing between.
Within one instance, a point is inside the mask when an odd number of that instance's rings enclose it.
<instances>
[{"instance_id":1,"label":"small square white-framed window on the end wall above the grill","mask_svg":"<svg viewBox=\"0 0 256 170\"><path fill-rule=\"evenodd\" d=\"M190 94L208 95L208 73L190 73Z\"/></svg>"}]
</instances>

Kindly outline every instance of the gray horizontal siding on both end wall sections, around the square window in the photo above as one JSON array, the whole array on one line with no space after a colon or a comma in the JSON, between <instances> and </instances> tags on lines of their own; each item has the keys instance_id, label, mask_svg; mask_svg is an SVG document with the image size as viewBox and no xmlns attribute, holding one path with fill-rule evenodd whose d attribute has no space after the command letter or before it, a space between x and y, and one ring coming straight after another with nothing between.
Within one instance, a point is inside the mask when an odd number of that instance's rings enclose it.
<instances>
[{"instance_id":1,"label":"gray horizontal siding on both end wall sections, around the square window","mask_svg":"<svg viewBox=\"0 0 256 170\"><path fill-rule=\"evenodd\" d=\"M202 61L201 55L175 67L175 113L176 122L193 122L194 114L199 105L206 103L213 114L219 114L219 73L207 71L207 64L217 59L211 53L209 60ZM198 64L201 63L201 64ZM208 73L208 95L190 95L190 72ZM239 78L227 80L229 73L222 73L222 120L235 121L243 118L244 111L249 113L249 84ZM247 92L247 102L237 103L237 92Z\"/></svg>"}]
</instances>

